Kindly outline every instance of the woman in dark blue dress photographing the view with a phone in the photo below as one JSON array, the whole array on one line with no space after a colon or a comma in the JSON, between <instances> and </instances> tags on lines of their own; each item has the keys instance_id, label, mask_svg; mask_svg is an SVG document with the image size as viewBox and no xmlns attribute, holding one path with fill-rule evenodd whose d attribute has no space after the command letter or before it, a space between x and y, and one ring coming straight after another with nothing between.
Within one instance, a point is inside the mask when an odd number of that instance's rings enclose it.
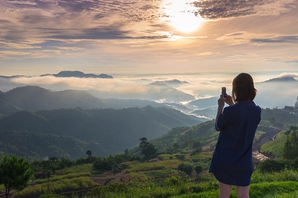
<instances>
[{"instance_id":1,"label":"woman in dark blue dress photographing the view with a phone","mask_svg":"<svg viewBox=\"0 0 298 198\"><path fill-rule=\"evenodd\" d=\"M220 95L218 99L215 127L220 135L209 168L218 179L220 198L230 196L232 185L236 186L238 198L249 197L252 142L261 120L261 108L253 102L256 89L252 76L240 73L232 87L231 96ZM225 102L229 107L225 107Z\"/></svg>"}]
</instances>

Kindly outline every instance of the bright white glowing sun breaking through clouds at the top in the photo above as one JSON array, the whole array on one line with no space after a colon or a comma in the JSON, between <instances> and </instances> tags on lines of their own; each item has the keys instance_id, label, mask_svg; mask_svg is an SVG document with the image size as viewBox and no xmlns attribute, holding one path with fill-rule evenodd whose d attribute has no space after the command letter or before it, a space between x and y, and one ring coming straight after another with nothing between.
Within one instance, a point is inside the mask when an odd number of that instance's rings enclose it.
<instances>
[{"instance_id":1,"label":"bright white glowing sun breaking through clouds at the top","mask_svg":"<svg viewBox=\"0 0 298 198\"><path fill-rule=\"evenodd\" d=\"M197 8L187 0L163 1L163 12L166 15L166 23L182 33L193 33L201 26L203 19L195 16Z\"/></svg>"}]
</instances>

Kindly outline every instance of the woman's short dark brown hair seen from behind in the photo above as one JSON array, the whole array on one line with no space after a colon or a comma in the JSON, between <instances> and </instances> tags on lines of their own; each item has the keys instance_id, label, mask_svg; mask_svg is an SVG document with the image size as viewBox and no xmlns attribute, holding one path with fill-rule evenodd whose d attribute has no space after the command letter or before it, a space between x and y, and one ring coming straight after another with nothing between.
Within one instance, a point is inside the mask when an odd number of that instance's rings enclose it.
<instances>
[{"instance_id":1,"label":"woman's short dark brown hair seen from behind","mask_svg":"<svg viewBox=\"0 0 298 198\"><path fill-rule=\"evenodd\" d=\"M231 97L235 102L242 100L252 101L256 97L254 80L248 73L238 74L233 80L232 87Z\"/></svg>"}]
</instances>

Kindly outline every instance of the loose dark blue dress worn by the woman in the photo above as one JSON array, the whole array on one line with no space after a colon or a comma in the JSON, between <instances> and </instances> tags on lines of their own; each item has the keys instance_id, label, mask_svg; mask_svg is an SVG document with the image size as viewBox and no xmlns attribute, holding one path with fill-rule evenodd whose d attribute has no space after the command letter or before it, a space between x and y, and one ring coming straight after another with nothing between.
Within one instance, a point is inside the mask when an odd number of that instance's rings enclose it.
<instances>
[{"instance_id":1,"label":"loose dark blue dress worn by the woman","mask_svg":"<svg viewBox=\"0 0 298 198\"><path fill-rule=\"evenodd\" d=\"M261 120L261 108L253 101L239 101L225 107L215 123L220 131L209 172L218 181L249 186L252 176L252 143Z\"/></svg>"}]
</instances>

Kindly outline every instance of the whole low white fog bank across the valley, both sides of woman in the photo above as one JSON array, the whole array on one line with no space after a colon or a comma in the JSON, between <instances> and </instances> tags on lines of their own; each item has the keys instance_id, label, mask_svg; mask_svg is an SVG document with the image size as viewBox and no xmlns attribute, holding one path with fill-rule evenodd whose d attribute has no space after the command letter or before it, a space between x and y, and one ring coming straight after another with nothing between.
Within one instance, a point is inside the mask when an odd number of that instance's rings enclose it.
<instances>
[{"instance_id":1,"label":"whole low white fog bank across the valley, both sides of woman","mask_svg":"<svg viewBox=\"0 0 298 198\"><path fill-rule=\"evenodd\" d=\"M185 105L192 100L219 96L221 87L227 87L227 93L231 94L231 81L234 76L233 73L225 75L212 73L204 75L118 75L113 79L55 78L54 76L0 78L0 90L6 92L15 87L36 85L53 91L86 90L98 98L131 98ZM272 76L272 78L288 77L297 79L298 73L281 73L276 77ZM270 78L264 79L260 76L256 79L255 86L258 90L256 104L270 108L294 106L298 96L297 80L262 82Z\"/></svg>"}]
</instances>

